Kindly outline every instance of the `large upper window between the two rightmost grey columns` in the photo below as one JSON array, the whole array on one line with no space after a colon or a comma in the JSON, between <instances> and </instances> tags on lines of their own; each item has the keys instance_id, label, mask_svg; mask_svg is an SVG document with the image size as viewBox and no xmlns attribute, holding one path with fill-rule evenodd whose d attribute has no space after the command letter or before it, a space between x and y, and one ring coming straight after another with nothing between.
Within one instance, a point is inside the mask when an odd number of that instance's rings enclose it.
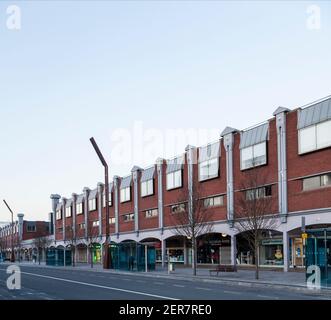
<instances>
[{"instance_id":1,"label":"large upper window between the two rightmost grey columns","mask_svg":"<svg viewBox=\"0 0 331 320\"><path fill-rule=\"evenodd\" d=\"M267 143L262 142L241 149L241 170L267 163Z\"/></svg>"}]
</instances>

